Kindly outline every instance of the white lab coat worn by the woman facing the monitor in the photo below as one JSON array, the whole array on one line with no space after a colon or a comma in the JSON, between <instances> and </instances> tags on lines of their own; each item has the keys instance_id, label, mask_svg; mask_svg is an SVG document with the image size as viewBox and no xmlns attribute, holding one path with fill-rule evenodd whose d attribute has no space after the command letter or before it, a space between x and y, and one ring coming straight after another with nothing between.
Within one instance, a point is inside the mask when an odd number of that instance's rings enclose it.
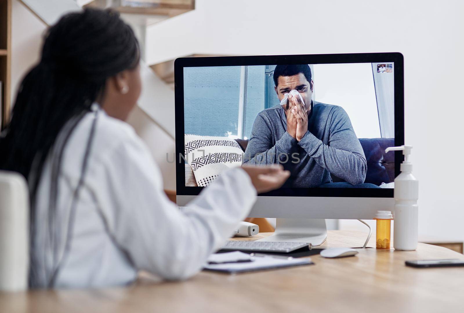
<instances>
[{"instance_id":1,"label":"white lab coat worn by the woman facing the monitor","mask_svg":"<svg viewBox=\"0 0 464 313\"><path fill-rule=\"evenodd\" d=\"M64 150L58 180L58 258L64 251L72 194L93 114L77 125ZM256 189L249 176L240 168L224 172L180 212L164 194L160 170L134 130L102 110L98 115L71 245L55 287L124 285L136 279L138 270L168 280L196 274L255 202ZM43 287L46 273L52 272L52 247L47 240L51 163L49 157L35 207L33 253L42 261L34 271Z\"/></svg>"}]
</instances>

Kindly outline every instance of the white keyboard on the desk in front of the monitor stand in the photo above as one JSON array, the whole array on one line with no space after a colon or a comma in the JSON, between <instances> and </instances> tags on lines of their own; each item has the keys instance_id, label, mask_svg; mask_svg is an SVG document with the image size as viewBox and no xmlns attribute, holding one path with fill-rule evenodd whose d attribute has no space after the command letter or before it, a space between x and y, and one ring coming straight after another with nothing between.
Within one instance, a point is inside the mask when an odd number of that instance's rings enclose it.
<instances>
[{"instance_id":1,"label":"white keyboard on the desk in front of the monitor stand","mask_svg":"<svg viewBox=\"0 0 464 313\"><path fill-rule=\"evenodd\" d=\"M263 251L263 252L292 252L309 246L303 242L272 242L272 241L226 241L222 250Z\"/></svg>"}]
</instances>

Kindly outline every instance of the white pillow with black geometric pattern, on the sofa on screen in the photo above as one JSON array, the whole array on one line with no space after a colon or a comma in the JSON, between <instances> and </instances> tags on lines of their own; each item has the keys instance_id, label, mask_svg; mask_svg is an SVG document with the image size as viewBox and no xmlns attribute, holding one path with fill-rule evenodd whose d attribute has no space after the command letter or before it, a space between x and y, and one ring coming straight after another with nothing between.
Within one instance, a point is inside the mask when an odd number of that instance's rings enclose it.
<instances>
[{"instance_id":1,"label":"white pillow with black geometric pattern, on the sofa on screen","mask_svg":"<svg viewBox=\"0 0 464 313\"><path fill-rule=\"evenodd\" d=\"M228 137L185 135L186 163L200 187L208 186L223 170L242 165L243 150Z\"/></svg>"}]
</instances>

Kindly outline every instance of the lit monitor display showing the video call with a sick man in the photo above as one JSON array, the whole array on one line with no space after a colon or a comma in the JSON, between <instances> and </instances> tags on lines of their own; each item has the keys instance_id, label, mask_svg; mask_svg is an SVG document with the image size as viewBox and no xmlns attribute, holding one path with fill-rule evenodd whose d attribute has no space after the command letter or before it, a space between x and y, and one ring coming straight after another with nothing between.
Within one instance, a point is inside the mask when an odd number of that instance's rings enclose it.
<instances>
[{"instance_id":1,"label":"lit monitor display showing the video call with a sick man","mask_svg":"<svg viewBox=\"0 0 464 313\"><path fill-rule=\"evenodd\" d=\"M385 153L398 143L393 60L182 73L185 187L274 163L290 170L284 189L394 187L395 154Z\"/></svg>"}]
</instances>

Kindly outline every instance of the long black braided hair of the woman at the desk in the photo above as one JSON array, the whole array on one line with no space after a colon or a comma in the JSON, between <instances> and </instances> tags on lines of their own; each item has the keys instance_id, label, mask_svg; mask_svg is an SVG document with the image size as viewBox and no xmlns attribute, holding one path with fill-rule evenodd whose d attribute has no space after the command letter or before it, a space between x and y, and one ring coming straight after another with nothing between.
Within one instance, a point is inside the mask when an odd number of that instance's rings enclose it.
<instances>
[{"instance_id":1,"label":"long black braided hair of the woman at the desk","mask_svg":"<svg viewBox=\"0 0 464 313\"><path fill-rule=\"evenodd\" d=\"M21 82L11 122L0 134L0 169L19 172L29 184L31 247L35 198L46 158L59 151L52 164L49 216L53 216L67 139L104 95L107 79L135 69L139 61L134 32L112 10L89 8L66 14L45 33L40 62ZM35 263L32 258L31 270Z\"/></svg>"}]
</instances>

